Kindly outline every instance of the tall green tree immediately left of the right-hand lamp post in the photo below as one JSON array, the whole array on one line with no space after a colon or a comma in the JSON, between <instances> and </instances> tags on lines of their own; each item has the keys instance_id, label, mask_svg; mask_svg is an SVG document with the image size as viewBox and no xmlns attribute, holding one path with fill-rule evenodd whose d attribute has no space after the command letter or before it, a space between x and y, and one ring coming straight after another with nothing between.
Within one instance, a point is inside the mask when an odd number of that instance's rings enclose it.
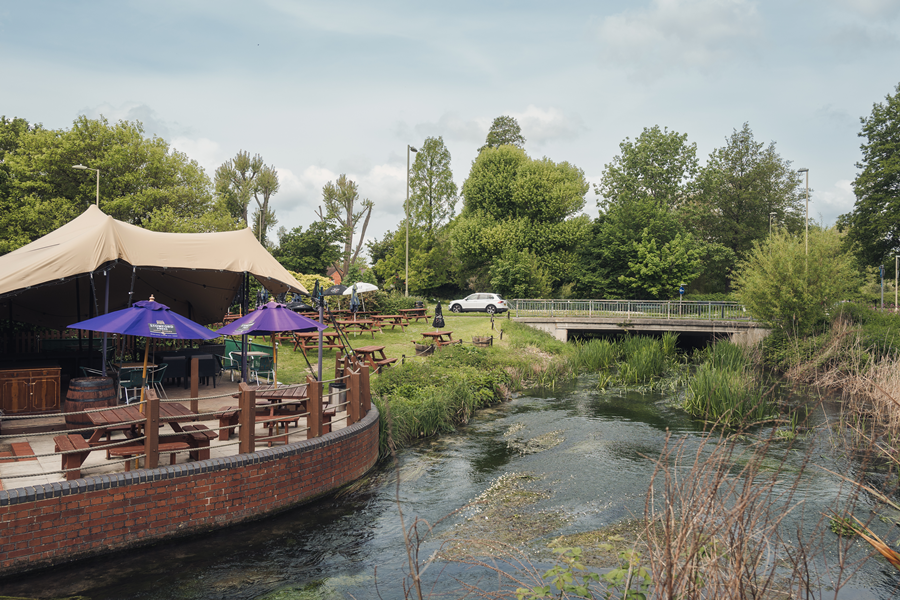
<instances>
[{"instance_id":1,"label":"tall green tree immediately left of the right-hand lamp post","mask_svg":"<svg viewBox=\"0 0 900 600\"><path fill-rule=\"evenodd\" d=\"M757 142L747 123L710 154L698 179L700 193L684 208L684 219L738 257L768 235L770 213L789 231L803 225L800 175L778 155L774 142Z\"/></svg>"}]
</instances>

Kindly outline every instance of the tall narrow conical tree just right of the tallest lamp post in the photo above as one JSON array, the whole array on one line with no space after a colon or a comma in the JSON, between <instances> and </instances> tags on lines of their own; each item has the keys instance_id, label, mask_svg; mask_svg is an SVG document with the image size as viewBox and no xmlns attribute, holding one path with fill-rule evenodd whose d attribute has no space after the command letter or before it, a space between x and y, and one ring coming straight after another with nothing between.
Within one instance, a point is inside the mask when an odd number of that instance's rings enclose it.
<instances>
[{"instance_id":1,"label":"tall narrow conical tree just right of the tallest lamp post","mask_svg":"<svg viewBox=\"0 0 900 600\"><path fill-rule=\"evenodd\" d=\"M442 137L425 138L413 162L409 185L409 216L414 226L430 232L453 218L457 190L450 151Z\"/></svg>"}]
</instances>

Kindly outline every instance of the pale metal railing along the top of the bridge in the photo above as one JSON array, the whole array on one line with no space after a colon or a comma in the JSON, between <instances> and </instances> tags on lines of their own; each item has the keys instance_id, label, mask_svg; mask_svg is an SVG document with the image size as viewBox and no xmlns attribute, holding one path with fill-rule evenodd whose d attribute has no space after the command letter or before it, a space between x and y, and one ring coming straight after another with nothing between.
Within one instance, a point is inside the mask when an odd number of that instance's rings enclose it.
<instances>
[{"instance_id":1,"label":"pale metal railing along the top of the bridge","mask_svg":"<svg viewBox=\"0 0 900 600\"><path fill-rule=\"evenodd\" d=\"M514 317L624 317L749 321L737 302L671 300L508 300Z\"/></svg>"}]
</instances>

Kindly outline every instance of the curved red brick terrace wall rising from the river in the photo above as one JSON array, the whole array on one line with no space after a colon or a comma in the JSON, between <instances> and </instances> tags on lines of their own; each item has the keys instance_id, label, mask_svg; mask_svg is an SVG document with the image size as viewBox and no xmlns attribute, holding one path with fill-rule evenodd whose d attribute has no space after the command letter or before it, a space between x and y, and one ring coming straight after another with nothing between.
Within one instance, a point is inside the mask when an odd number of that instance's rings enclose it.
<instances>
[{"instance_id":1,"label":"curved red brick terrace wall rising from the river","mask_svg":"<svg viewBox=\"0 0 900 600\"><path fill-rule=\"evenodd\" d=\"M0 491L0 575L252 520L364 475L378 411L253 454Z\"/></svg>"}]
</instances>

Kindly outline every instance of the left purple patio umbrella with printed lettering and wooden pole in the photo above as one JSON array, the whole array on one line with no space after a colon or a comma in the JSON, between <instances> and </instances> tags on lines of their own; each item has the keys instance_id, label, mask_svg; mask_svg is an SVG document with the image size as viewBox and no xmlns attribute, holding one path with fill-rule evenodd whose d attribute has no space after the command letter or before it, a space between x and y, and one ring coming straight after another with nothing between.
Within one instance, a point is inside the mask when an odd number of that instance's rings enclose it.
<instances>
[{"instance_id":1,"label":"left purple patio umbrella with printed lettering and wooden pole","mask_svg":"<svg viewBox=\"0 0 900 600\"><path fill-rule=\"evenodd\" d=\"M69 325L69 328L173 340L208 340L219 337L219 334L212 329L207 329L203 325L172 312L165 304L156 302L153 296L150 296L150 300L135 302L129 308L100 315L87 321L79 321ZM149 352L150 344L145 344L143 370L145 383ZM141 386L141 402L143 401L144 386Z\"/></svg>"}]
</instances>

